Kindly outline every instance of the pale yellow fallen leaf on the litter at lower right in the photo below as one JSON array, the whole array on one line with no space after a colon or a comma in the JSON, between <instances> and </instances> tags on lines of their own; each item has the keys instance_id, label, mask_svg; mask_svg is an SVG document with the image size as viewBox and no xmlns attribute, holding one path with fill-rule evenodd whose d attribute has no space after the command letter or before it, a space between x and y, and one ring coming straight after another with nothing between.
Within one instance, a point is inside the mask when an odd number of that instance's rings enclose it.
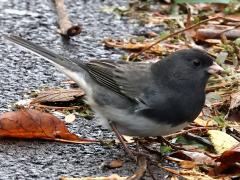
<instances>
[{"instance_id":1,"label":"pale yellow fallen leaf on the litter at lower right","mask_svg":"<svg viewBox=\"0 0 240 180\"><path fill-rule=\"evenodd\" d=\"M222 131L209 130L208 134L210 135L210 140L218 154L222 154L224 151L231 149L239 143L232 136Z\"/></svg>"}]
</instances>

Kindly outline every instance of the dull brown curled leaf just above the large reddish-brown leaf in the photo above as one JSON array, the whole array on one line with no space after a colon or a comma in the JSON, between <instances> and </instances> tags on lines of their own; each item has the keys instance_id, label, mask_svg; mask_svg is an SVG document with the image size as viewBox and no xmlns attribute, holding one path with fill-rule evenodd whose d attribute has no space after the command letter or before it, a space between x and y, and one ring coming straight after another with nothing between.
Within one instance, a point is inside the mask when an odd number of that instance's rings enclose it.
<instances>
[{"instance_id":1,"label":"dull brown curled leaf just above the large reddish-brown leaf","mask_svg":"<svg viewBox=\"0 0 240 180\"><path fill-rule=\"evenodd\" d=\"M81 97L84 94L82 89L50 89L40 92L38 96L32 100L31 104L72 101L76 97Z\"/></svg>"}]
</instances>

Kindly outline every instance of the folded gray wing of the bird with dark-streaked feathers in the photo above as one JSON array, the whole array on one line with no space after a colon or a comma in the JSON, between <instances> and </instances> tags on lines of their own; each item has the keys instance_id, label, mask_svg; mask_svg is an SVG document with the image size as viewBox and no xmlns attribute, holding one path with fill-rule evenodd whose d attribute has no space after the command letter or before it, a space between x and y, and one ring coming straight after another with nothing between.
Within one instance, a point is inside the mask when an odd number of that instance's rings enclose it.
<instances>
[{"instance_id":1,"label":"folded gray wing of the bird with dark-streaked feathers","mask_svg":"<svg viewBox=\"0 0 240 180\"><path fill-rule=\"evenodd\" d=\"M112 91L139 100L151 84L152 63L90 61L87 71L99 84Z\"/></svg>"}]
</instances>

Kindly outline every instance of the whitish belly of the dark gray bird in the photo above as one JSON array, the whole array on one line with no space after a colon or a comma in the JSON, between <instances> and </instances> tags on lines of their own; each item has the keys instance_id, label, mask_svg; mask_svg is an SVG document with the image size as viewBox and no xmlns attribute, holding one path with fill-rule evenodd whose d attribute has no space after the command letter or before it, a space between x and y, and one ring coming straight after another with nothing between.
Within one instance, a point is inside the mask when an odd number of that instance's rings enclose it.
<instances>
[{"instance_id":1,"label":"whitish belly of the dark gray bird","mask_svg":"<svg viewBox=\"0 0 240 180\"><path fill-rule=\"evenodd\" d=\"M93 105L92 108L104 127L111 129L108 123L108 120L111 120L121 134L128 136L163 136L177 132L189 124L185 122L177 126L171 126L167 123L149 121L135 114L127 114L126 111L112 107L104 106L103 108Z\"/></svg>"}]
</instances>

